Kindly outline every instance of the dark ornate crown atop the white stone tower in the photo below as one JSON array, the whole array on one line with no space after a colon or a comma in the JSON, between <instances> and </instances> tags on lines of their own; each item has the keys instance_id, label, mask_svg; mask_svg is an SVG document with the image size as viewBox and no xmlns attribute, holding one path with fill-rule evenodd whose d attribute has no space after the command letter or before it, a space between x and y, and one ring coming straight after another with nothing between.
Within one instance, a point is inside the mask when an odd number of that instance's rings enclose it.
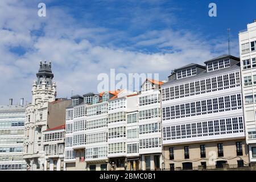
<instances>
[{"instance_id":1,"label":"dark ornate crown atop the white stone tower","mask_svg":"<svg viewBox=\"0 0 256 182\"><path fill-rule=\"evenodd\" d=\"M37 85L42 85L45 81L47 86L52 86L53 73L51 61L49 61L49 64L46 61L44 63L40 61L40 67L38 73L36 73L36 77L38 77Z\"/></svg>"}]
</instances>

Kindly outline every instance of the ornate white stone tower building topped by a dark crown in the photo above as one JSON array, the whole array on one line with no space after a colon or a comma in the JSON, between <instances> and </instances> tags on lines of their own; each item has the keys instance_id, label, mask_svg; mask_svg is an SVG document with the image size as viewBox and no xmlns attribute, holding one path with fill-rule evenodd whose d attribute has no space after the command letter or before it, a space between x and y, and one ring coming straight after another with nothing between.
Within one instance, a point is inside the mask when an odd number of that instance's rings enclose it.
<instances>
[{"instance_id":1,"label":"ornate white stone tower building topped by a dark crown","mask_svg":"<svg viewBox=\"0 0 256 182\"><path fill-rule=\"evenodd\" d=\"M32 103L26 107L23 158L27 170L44 169L43 133L47 130L48 102L55 101L56 84L52 82L51 63L40 63L38 81L32 85Z\"/></svg>"}]
</instances>

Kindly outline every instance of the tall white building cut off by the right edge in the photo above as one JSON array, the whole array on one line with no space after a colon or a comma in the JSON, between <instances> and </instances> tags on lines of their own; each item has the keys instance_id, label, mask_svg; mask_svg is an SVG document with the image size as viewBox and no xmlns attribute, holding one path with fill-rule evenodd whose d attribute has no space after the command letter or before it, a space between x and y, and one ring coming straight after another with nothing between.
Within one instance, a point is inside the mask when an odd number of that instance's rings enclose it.
<instances>
[{"instance_id":1,"label":"tall white building cut off by the right edge","mask_svg":"<svg viewBox=\"0 0 256 182\"><path fill-rule=\"evenodd\" d=\"M256 20L239 33L243 110L250 163L256 163Z\"/></svg>"}]
</instances>

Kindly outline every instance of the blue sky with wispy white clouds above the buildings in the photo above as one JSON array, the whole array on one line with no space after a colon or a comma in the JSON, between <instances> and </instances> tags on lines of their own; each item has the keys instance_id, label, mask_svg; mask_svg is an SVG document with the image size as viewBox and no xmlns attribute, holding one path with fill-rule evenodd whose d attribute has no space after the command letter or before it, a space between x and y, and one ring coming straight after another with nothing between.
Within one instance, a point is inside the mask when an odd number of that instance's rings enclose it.
<instances>
[{"instance_id":1,"label":"blue sky with wispy white clouds above the buildings","mask_svg":"<svg viewBox=\"0 0 256 182\"><path fill-rule=\"evenodd\" d=\"M44 2L47 16L37 15ZM217 17L208 5L217 5ZM0 2L0 104L31 101L40 60L51 60L57 96L97 92L97 75L159 73L203 64L228 53L239 56L238 32L256 19L256 1L18 1ZM18 90L16 88L19 88ZM14 102L15 104L15 102Z\"/></svg>"}]
</instances>

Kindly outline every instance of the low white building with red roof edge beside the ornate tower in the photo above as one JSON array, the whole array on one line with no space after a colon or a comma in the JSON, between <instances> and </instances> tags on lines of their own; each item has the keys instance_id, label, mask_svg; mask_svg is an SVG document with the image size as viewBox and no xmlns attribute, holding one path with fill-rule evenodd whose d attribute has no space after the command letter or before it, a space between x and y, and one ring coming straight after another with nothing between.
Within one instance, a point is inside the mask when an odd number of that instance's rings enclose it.
<instances>
[{"instance_id":1,"label":"low white building with red roof edge beside the ornate tower","mask_svg":"<svg viewBox=\"0 0 256 182\"><path fill-rule=\"evenodd\" d=\"M43 131L44 171L64 171L65 125Z\"/></svg>"}]
</instances>

